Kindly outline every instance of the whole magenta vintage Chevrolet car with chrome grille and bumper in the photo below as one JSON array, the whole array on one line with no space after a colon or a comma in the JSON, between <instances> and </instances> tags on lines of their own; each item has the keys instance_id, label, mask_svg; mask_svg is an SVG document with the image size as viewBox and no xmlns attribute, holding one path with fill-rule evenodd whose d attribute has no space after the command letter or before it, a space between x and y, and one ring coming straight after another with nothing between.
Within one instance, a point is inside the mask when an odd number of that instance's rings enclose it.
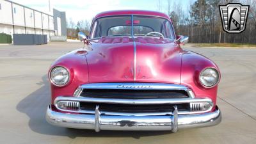
<instances>
[{"instance_id":1,"label":"whole magenta vintage Chevrolet car with chrome grille and bumper","mask_svg":"<svg viewBox=\"0 0 256 144\"><path fill-rule=\"evenodd\" d=\"M164 13L122 10L96 15L84 47L49 70L47 122L76 129L172 131L221 122L216 64L180 48Z\"/></svg>"}]
</instances>

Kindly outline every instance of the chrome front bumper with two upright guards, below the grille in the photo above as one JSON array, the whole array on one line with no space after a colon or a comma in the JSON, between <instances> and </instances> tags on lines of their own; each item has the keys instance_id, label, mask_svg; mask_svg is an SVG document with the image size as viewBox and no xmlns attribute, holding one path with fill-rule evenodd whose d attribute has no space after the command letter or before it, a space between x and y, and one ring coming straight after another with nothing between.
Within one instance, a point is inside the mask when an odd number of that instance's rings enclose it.
<instances>
[{"instance_id":1,"label":"chrome front bumper with two upright guards, below the grille","mask_svg":"<svg viewBox=\"0 0 256 144\"><path fill-rule=\"evenodd\" d=\"M201 114L178 115L177 108L173 115L133 116L104 115L98 108L92 114L67 114L47 108L46 120L52 125L76 129L95 129L113 131L172 131L191 127L209 127L221 122L221 112L215 111Z\"/></svg>"}]
</instances>

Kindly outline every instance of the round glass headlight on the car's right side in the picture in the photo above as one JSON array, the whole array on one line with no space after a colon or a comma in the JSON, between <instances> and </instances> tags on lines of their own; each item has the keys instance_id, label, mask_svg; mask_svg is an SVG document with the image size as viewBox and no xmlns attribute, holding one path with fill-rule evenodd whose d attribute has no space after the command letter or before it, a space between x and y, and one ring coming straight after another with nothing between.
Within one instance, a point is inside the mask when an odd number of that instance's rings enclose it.
<instances>
[{"instance_id":1,"label":"round glass headlight on the car's right side in the picture","mask_svg":"<svg viewBox=\"0 0 256 144\"><path fill-rule=\"evenodd\" d=\"M218 83L219 73L214 68L206 68L201 72L199 79L204 86L211 87Z\"/></svg>"}]
</instances>

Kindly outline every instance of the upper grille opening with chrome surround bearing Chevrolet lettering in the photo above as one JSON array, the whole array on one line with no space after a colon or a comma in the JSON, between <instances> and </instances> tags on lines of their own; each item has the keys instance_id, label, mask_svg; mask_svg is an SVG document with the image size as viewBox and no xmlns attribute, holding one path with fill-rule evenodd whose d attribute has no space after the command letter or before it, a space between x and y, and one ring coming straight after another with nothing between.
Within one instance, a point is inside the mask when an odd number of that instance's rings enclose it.
<instances>
[{"instance_id":1,"label":"upper grille opening with chrome surround bearing Chevrolet lettering","mask_svg":"<svg viewBox=\"0 0 256 144\"><path fill-rule=\"evenodd\" d=\"M164 83L91 83L77 88L75 97L104 99L184 99L193 98L186 86Z\"/></svg>"}]
</instances>

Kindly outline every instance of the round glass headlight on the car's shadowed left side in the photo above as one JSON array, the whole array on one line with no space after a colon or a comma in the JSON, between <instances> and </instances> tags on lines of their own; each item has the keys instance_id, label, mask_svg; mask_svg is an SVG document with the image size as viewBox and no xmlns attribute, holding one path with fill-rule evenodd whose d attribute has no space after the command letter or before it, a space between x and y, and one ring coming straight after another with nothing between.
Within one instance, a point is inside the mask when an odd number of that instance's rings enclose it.
<instances>
[{"instance_id":1,"label":"round glass headlight on the car's shadowed left side","mask_svg":"<svg viewBox=\"0 0 256 144\"><path fill-rule=\"evenodd\" d=\"M68 70L63 67L54 67L51 70L50 78L56 86L64 86L69 81Z\"/></svg>"}]
</instances>

